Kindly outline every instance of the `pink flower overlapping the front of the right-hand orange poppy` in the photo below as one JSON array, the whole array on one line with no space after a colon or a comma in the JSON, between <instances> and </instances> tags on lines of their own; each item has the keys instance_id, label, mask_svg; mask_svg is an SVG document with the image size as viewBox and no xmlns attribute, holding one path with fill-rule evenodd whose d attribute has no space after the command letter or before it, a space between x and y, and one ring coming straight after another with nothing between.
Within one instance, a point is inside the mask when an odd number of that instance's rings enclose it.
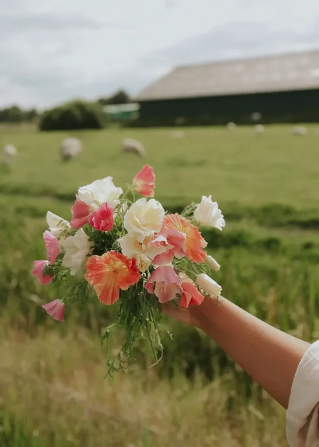
<instances>
[{"instance_id":1,"label":"pink flower overlapping the front of the right-hand orange poppy","mask_svg":"<svg viewBox=\"0 0 319 447\"><path fill-rule=\"evenodd\" d=\"M186 255L185 233L173 230L172 228L163 227L159 236L166 240L167 250L164 253L160 253L154 257L154 265L163 266L171 263L174 256L181 259Z\"/></svg>"}]
</instances>

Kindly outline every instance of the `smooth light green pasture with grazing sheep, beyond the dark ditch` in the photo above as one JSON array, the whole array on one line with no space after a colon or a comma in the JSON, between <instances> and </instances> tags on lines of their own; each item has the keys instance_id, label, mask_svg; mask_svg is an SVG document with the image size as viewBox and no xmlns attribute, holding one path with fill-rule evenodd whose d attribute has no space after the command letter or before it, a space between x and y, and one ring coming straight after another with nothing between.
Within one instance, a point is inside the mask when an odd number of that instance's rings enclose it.
<instances>
[{"instance_id":1,"label":"smooth light green pasture with grazing sheep, beyond the dark ditch","mask_svg":"<svg viewBox=\"0 0 319 447\"><path fill-rule=\"evenodd\" d=\"M184 204L212 194L222 205L316 207L319 138L314 131L298 137L290 135L289 126L271 126L263 135L250 127L236 132L193 128L186 129L186 138L180 140L171 133L168 129L74 132L83 141L83 154L63 164L58 147L65 132L0 132L0 145L10 142L19 150L12 172L1 176L0 190L73 197L80 185L107 175L124 186L142 164L120 151L122 139L133 137L146 148L145 160L157 174L157 198L164 203Z\"/></svg>"}]
</instances>

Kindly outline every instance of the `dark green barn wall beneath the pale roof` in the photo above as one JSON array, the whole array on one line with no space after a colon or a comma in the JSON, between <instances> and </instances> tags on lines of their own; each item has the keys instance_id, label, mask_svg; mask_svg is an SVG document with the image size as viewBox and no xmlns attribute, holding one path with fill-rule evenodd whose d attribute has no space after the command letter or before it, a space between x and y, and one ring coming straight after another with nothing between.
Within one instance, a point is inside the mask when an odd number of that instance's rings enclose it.
<instances>
[{"instance_id":1,"label":"dark green barn wall beneath the pale roof","mask_svg":"<svg viewBox=\"0 0 319 447\"><path fill-rule=\"evenodd\" d=\"M318 122L319 90L272 92L141 102L143 125L251 123L251 114L259 111L261 122ZM179 120L181 121L181 120Z\"/></svg>"}]
</instances>

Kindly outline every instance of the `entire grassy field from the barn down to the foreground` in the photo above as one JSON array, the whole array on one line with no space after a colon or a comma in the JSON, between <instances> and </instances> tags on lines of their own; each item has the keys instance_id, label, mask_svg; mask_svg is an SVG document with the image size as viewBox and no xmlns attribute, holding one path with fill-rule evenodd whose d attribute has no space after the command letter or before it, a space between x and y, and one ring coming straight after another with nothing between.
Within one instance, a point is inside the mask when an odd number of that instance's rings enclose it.
<instances>
[{"instance_id":1,"label":"entire grassy field from the barn down to the foreground","mask_svg":"<svg viewBox=\"0 0 319 447\"><path fill-rule=\"evenodd\" d=\"M125 187L144 160L123 154L124 137L140 139L156 173L156 198L170 210L212 194L225 230L204 231L222 265L224 296L309 341L319 338L319 136L271 126L111 129L75 132L81 156L63 164L66 133L0 129L0 146L18 148L0 166L0 445L64 447L162 445L285 446L285 413L203 334L169 322L173 341L145 368L143 352L129 375L104 380L100 333L112 309L74 308L49 320L40 304L58 297L30 275L44 256L51 210L70 218L77 188L113 176Z\"/></svg>"}]
</instances>

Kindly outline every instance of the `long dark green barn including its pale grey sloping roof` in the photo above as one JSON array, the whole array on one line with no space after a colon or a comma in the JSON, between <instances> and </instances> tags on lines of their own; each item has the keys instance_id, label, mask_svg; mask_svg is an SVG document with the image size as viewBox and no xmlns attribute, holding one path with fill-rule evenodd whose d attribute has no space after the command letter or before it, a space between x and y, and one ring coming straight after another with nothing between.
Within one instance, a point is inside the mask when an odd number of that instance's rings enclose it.
<instances>
[{"instance_id":1,"label":"long dark green barn including its pale grey sloping roof","mask_svg":"<svg viewBox=\"0 0 319 447\"><path fill-rule=\"evenodd\" d=\"M136 98L149 126L319 121L319 51L177 67Z\"/></svg>"}]
</instances>

